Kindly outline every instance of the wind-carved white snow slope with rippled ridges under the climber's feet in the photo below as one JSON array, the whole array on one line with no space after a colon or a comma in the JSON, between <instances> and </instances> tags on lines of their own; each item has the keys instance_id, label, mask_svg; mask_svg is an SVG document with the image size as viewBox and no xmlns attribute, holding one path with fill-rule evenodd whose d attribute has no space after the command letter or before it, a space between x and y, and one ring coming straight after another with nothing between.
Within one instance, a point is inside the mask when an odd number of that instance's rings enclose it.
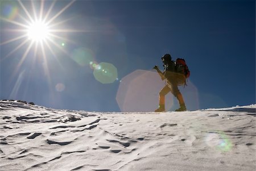
<instances>
[{"instance_id":1,"label":"wind-carved white snow slope with rippled ridges under the climber's feet","mask_svg":"<svg viewBox=\"0 0 256 171\"><path fill-rule=\"evenodd\" d=\"M255 170L255 109L101 113L0 101L0 170Z\"/></svg>"}]
</instances>

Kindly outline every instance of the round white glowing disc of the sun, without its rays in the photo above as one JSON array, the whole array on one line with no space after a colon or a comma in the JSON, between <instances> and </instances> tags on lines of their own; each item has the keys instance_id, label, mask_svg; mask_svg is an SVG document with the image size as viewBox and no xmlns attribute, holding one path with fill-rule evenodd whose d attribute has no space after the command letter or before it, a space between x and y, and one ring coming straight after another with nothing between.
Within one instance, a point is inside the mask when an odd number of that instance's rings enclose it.
<instances>
[{"instance_id":1,"label":"round white glowing disc of the sun, without its rays","mask_svg":"<svg viewBox=\"0 0 256 171\"><path fill-rule=\"evenodd\" d=\"M49 26L42 20L32 22L27 29L27 37L32 41L43 41L49 38Z\"/></svg>"}]
</instances>

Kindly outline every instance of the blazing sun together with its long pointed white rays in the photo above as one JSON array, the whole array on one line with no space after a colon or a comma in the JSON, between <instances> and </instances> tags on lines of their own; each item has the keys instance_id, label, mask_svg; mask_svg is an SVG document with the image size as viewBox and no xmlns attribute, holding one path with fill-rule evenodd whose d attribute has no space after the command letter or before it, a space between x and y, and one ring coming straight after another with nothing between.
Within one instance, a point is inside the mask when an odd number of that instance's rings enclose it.
<instances>
[{"instance_id":1,"label":"blazing sun together with its long pointed white rays","mask_svg":"<svg viewBox=\"0 0 256 171\"><path fill-rule=\"evenodd\" d=\"M18 0L18 6L12 7L12 4L7 3L3 6L4 11L18 11L16 12L16 18L12 17L2 17L0 19L4 22L13 24L7 28L7 32L14 33L9 34L10 36L16 35L6 41L0 42L0 45L5 45L9 43L14 43L15 41L21 41L21 43L14 47L13 51L8 53L6 57L11 56L18 49L27 46L26 51L24 51L22 60L20 60L20 65L34 49L34 56L38 56L38 51L41 51L43 58L46 59L46 53L51 52L53 56L56 56L54 52L56 49L63 51L65 54L68 54L64 48L63 44L67 42L72 42L65 37L62 37L61 34L69 32L81 32L78 30L65 29L63 24L71 19L59 20L59 16L67 10L75 0L69 1L63 9L53 12L53 7L56 4L56 1L22 1ZM48 3L47 5L45 3ZM47 7L46 7L47 6ZM11 9L11 10L8 10ZM16 9L16 10L12 10ZM54 14L55 13L55 14ZM62 26L62 27L61 27ZM63 28L64 27L64 28ZM4 57L4 58L6 58Z\"/></svg>"}]
</instances>

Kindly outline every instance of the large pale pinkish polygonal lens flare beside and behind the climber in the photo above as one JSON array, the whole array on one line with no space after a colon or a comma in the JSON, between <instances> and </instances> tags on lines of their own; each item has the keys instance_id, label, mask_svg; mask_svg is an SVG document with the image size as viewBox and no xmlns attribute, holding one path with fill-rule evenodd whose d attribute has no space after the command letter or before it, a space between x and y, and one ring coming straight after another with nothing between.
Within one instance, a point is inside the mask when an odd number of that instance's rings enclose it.
<instances>
[{"instance_id":1,"label":"large pale pinkish polygonal lens flare beside and behind the climber","mask_svg":"<svg viewBox=\"0 0 256 171\"><path fill-rule=\"evenodd\" d=\"M164 87L158 73L135 70L119 82L115 99L122 112L150 112L158 107L158 94ZM166 99L166 109L170 110L173 106L173 97L168 94Z\"/></svg>"}]
</instances>

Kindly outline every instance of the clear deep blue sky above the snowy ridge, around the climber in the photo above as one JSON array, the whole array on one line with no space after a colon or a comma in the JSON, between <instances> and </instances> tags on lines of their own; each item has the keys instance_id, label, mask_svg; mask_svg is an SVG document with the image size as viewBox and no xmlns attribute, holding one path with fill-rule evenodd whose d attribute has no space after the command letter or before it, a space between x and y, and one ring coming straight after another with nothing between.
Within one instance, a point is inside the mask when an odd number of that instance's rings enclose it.
<instances>
[{"instance_id":1,"label":"clear deep blue sky above the snowy ridge, around the climber","mask_svg":"<svg viewBox=\"0 0 256 171\"><path fill-rule=\"evenodd\" d=\"M255 103L255 1L0 3L0 99L55 109L123 111L131 102L156 109L163 83L152 68L163 69L160 57L170 53L191 70L180 87L188 110ZM47 33L43 24L31 31L35 18L46 19ZM177 107L171 95L166 101Z\"/></svg>"}]
</instances>

